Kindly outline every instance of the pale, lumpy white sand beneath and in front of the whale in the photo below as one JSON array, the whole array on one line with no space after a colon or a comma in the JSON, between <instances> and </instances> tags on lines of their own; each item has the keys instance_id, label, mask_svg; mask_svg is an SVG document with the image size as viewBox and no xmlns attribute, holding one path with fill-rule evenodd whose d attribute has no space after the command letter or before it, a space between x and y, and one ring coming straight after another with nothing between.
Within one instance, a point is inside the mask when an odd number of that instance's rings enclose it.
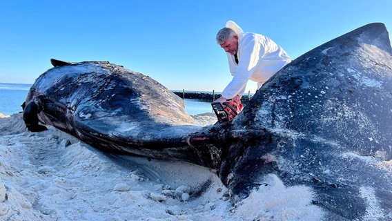
<instances>
[{"instance_id":1,"label":"pale, lumpy white sand beneath and in front of the whale","mask_svg":"<svg viewBox=\"0 0 392 221\"><path fill-rule=\"evenodd\" d=\"M215 171L202 166L106 155L53 127L28 133L20 113L0 118L0 135L0 220L322 218L310 189L274 175L232 206Z\"/></svg>"}]
</instances>

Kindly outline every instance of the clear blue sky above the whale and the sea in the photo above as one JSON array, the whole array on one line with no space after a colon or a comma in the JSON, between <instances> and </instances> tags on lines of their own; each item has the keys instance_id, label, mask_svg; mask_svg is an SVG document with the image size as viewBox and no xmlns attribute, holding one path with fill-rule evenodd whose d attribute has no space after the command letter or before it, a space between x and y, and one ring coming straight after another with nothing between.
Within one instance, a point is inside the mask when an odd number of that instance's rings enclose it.
<instances>
[{"instance_id":1,"label":"clear blue sky above the whale and the sea","mask_svg":"<svg viewBox=\"0 0 392 221\"><path fill-rule=\"evenodd\" d=\"M215 35L228 20L293 59L367 23L392 30L391 0L239 2L1 1L0 82L32 84L56 58L110 61L172 90L222 91L231 75Z\"/></svg>"}]
</instances>

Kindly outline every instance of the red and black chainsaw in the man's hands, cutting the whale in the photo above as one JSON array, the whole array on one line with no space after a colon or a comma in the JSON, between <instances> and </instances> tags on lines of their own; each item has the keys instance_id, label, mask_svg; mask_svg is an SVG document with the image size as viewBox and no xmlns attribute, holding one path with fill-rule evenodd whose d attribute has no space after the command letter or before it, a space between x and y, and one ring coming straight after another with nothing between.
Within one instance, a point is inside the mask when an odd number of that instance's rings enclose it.
<instances>
[{"instance_id":1,"label":"red and black chainsaw in the man's hands, cutting the whale","mask_svg":"<svg viewBox=\"0 0 392 221\"><path fill-rule=\"evenodd\" d=\"M244 108L241 102L237 104L233 99L223 103L213 102L211 106L213 106L213 111L221 124L231 122Z\"/></svg>"}]
</instances>

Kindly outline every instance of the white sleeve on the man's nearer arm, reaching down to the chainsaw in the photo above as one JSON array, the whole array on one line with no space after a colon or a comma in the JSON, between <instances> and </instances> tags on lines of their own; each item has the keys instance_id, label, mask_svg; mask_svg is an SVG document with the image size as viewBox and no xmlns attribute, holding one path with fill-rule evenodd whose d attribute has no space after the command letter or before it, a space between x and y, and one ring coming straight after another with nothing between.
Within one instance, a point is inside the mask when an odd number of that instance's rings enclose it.
<instances>
[{"instance_id":1,"label":"white sleeve on the man's nearer arm, reaching down to the chainsaw","mask_svg":"<svg viewBox=\"0 0 392 221\"><path fill-rule=\"evenodd\" d=\"M239 48L239 64L231 82L224 88L222 96L231 99L244 94L246 84L252 76L259 57L264 55L264 46L255 44L253 35L245 35Z\"/></svg>"}]
</instances>

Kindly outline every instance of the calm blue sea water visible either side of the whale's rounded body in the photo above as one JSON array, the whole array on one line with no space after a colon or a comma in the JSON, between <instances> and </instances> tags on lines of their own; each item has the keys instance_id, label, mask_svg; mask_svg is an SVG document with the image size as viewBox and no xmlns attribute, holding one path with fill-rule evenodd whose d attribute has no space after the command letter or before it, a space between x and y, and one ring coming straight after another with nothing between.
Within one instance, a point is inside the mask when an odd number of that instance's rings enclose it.
<instances>
[{"instance_id":1,"label":"calm blue sea water visible either side of the whale's rounded body","mask_svg":"<svg viewBox=\"0 0 392 221\"><path fill-rule=\"evenodd\" d=\"M12 115L22 111L21 104L26 100L31 84L0 83L0 113ZM195 99L184 99L185 111L190 115L212 113L210 102L200 102Z\"/></svg>"}]
</instances>

